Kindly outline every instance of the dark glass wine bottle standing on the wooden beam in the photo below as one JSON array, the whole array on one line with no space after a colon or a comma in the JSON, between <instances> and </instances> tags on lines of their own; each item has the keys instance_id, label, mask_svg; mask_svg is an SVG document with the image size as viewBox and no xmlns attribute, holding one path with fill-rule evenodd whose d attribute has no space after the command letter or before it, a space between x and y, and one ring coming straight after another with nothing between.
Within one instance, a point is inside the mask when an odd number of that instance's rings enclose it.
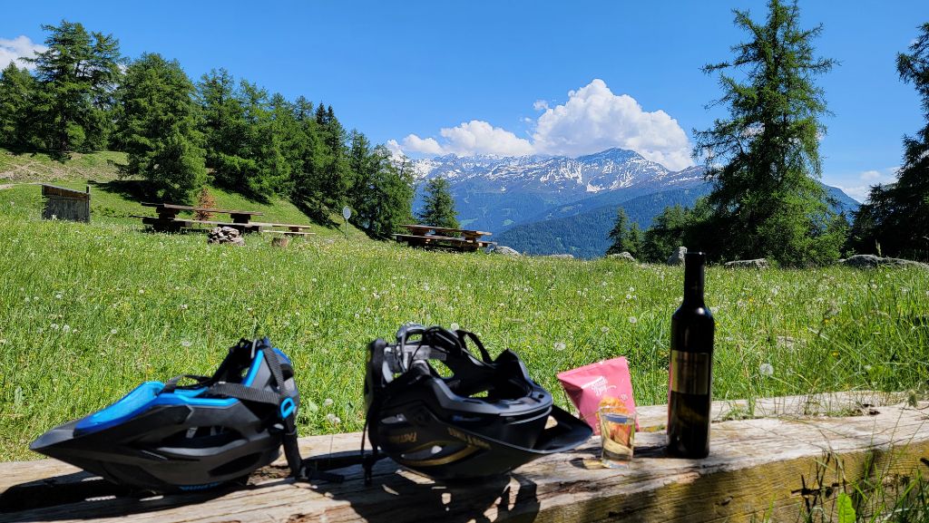
<instances>
[{"instance_id":1,"label":"dark glass wine bottle standing on the wooden beam","mask_svg":"<svg viewBox=\"0 0 929 523\"><path fill-rule=\"evenodd\" d=\"M686 458L710 453L713 401L713 314L703 302L706 255L684 257L684 302L671 317L668 452Z\"/></svg>"}]
</instances>

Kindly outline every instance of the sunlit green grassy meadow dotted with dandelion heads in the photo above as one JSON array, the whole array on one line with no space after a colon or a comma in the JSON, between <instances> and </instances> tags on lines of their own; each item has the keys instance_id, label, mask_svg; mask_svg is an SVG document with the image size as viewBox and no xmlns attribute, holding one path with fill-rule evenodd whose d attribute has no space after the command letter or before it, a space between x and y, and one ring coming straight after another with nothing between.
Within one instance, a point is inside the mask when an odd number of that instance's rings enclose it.
<instances>
[{"instance_id":1,"label":"sunlit green grassy meadow dotted with dandelion heads","mask_svg":"<svg viewBox=\"0 0 929 523\"><path fill-rule=\"evenodd\" d=\"M117 217L42 221L38 192L0 190L0 459L36 457L33 438L144 380L211 373L253 333L294 359L303 435L361 429L365 346L405 321L512 348L551 390L560 371L624 355L638 403L666 396L681 268L432 253L335 230L286 249L259 235L207 245ZM709 268L706 288L715 399L926 384L929 271Z\"/></svg>"}]
</instances>

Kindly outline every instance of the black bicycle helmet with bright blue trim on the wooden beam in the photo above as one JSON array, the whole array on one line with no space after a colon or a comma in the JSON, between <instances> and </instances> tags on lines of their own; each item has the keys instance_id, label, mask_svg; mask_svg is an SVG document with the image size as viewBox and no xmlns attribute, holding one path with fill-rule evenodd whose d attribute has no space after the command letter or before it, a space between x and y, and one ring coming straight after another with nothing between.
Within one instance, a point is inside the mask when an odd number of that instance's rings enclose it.
<instances>
[{"instance_id":1,"label":"black bicycle helmet with bright blue trim on the wooden beam","mask_svg":"<svg viewBox=\"0 0 929 523\"><path fill-rule=\"evenodd\" d=\"M188 377L195 385L178 386ZM242 339L213 377L146 382L102 411L53 428L30 449L140 490L201 490L247 477L284 444L299 476L291 361Z\"/></svg>"}]
</instances>

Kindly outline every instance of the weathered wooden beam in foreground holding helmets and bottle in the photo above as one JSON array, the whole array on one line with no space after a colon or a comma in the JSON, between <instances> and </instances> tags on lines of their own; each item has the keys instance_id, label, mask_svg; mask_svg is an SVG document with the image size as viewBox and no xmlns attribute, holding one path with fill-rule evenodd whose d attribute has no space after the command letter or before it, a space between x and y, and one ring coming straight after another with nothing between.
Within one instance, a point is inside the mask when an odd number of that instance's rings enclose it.
<instances>
[{"instance_id":1,"label":"weathered wooden beam in foreground holding helmets and bottle","mask_svg":"<svg viewBox=\"0 0 929 523\"><path fill-rule=\"evenodd\" d=\"M666 456L667 407L640 407L627 468L591 468L599 452L592 438L575 451L464 484L438 484L389 459L374 466L368 486L360 465L333 470L342 483L294 482L281 458L244 488L127 497L56 460L0 463L0 520L793 522L809 506L834 518L832 503L852 484L902 489L929 472L929 402L909 406L905 399L859 391L715 401L711 452L702 460ZM744 419L750 406L758 417ZM336 459L357 454L360 441L360 433L313 436L301 438L300 448ZM859 517L870 520L864 510Z\"/></svg>"}]
</instances>

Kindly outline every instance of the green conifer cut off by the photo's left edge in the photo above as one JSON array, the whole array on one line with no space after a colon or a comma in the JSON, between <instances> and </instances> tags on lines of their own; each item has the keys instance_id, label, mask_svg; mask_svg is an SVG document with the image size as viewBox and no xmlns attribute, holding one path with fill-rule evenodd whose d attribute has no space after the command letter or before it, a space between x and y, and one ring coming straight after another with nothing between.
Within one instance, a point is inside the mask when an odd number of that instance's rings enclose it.
<instances>
[{"instance_id":1,"label":"green conifer cut off by the photo's left edge","mask_svg":"<svg viewBox=\"0 0 929 523\"><path fill-rule=\"evenodd\" d=\"M35 79L25 68L10 62L0 73L0 147L23 150L31 141L29 115L35 96Z\"/></svg>"}]
</instances>

